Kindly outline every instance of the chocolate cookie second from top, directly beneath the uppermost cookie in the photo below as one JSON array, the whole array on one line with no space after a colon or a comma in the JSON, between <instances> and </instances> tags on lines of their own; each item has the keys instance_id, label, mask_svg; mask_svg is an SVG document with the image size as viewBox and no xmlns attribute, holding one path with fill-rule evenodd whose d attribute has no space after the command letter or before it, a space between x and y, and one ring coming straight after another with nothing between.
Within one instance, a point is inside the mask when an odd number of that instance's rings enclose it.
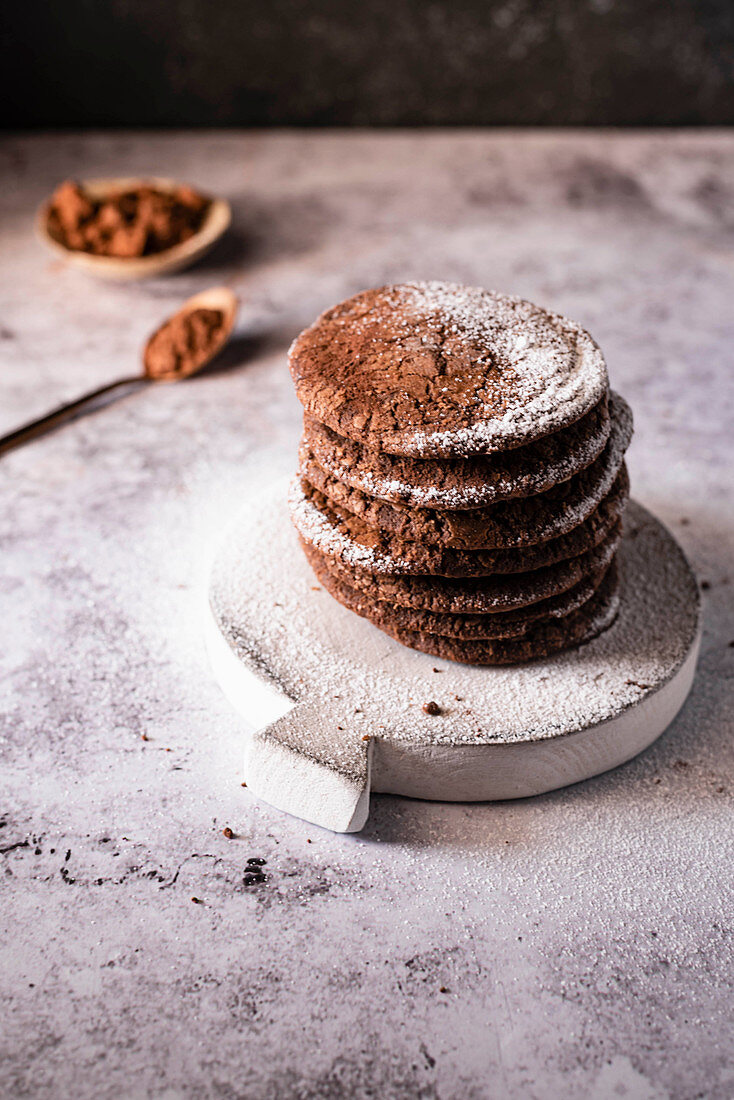
<instances>
[{"instance_id":1,"label":"chocolate cookie second from top, directly beneath the uppermost cookie","mask_svg":"<svg viewBox=\"0 0 734 1100\"><path fill-rule=\"evenodd\" d=\"M591 465L609 433L603 397L576 424L514 451L476 459L407 459L370 450L308 414L304 417L304 443L321 470L368 496L414 508L480 508L545 493Z\"/></svg>"}]
</instances>

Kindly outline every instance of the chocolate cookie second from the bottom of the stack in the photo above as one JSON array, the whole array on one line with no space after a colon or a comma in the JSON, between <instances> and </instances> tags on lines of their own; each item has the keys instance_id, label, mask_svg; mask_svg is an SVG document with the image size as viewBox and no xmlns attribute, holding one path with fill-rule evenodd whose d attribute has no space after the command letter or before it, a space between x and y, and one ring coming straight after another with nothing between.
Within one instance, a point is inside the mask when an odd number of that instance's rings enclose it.
<instances>
[{"instance_id":1,"label":"chocolate cookie second from the bottom of the stack","mask_svg":"<svg viewBox=\"0 0 734 1100\"><path fill-rule=\"evenodd\" d=\"M353 588L330 573L318 554L309 556L309 563L320 583L335 600L363 618L370 619L375 626L388 630L437 634L445 638L459 638L464 641L483 638L522 638L535 624L562 618L585 604L607 572L606 569L598 570L579 581L568 592L540 600L518 610L484 615L451 615L372 600L366 593ZM615 561L612 561L609 569L616 569Z\"/></svg>"}]
</instances>

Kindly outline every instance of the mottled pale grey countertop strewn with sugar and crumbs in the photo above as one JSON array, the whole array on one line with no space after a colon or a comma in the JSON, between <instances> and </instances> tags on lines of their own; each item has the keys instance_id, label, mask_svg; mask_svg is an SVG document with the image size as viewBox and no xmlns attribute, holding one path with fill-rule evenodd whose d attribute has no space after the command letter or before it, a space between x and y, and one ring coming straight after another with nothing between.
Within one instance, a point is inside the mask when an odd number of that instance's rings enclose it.
<instances>
[{"instance_id":1,"label":"mottled pale grey countertop strewn with sugar and crumbs","mask_svg":"<svg viewBox=\"0 0 734 1100\"><path fill-rule=\"evenodd\" d=\"M2 1096L730 1098L734 135L64 135L0 156L0 432L130 372L185 297L242 298L217 371L0 460ZM34 240L62 178L135 173L226 195L233 232L134 285ZM703 648L683 712L617 771L516 803L375 796L336 836L240 785L202 588L240 501L295 462L293 336L415 277L591 329L635 411L635 495L704 581ZM251 857L266 879L245 886Z\"/></svg>"}]
</instances>

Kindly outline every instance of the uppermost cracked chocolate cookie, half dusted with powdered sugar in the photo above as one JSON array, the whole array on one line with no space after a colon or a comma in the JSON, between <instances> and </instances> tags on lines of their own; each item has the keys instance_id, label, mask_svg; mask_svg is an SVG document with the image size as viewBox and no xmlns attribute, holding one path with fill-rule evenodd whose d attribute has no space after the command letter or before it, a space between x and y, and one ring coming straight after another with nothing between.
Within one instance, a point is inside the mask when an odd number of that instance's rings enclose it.
<instances>
[{"instance_id":1,"label":"uppermost cracked chocolate cookie, half dusted with powdered sugar","mask_svg":"<svg viewBox=\"0 0 734 1100\"><path fill-rule=\"evenodd\" d=\"M464 458L566 428L607 389L588 332L522 298L451 283L364 290L294 341L306 411L387 454Z\"/></svg>"}]
</instances>

